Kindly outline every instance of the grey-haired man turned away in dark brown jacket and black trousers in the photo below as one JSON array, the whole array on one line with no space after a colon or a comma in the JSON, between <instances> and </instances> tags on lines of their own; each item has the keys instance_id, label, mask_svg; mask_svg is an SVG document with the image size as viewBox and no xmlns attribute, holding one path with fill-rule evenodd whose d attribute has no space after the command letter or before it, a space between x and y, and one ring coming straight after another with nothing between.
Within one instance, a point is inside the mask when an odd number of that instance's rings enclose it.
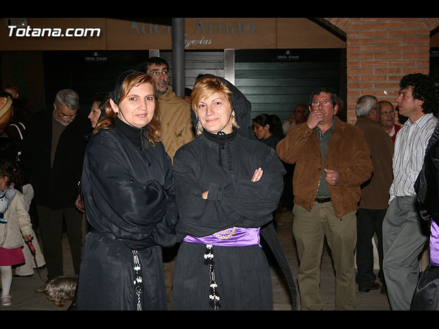
<instances>
[{"instance_id":1,"label":"grey-haired man turned away in dark brown jacket and black trousers","mask_svg":"<svg viewBox=\"0 0 439 329\"><path fill-rule=\"evenodd\" d=\"M357 211L357 276L358 291L367 293L379 289L373 272L372 237L377 234L379 273L385 292L383 276L383 219L388 208L389 189L393 180L392 138L380 127L379 103L375 96L361 96L355 106L357 113L356 127L363 132L370 149L373 172L372 177L361 185L361 199Z\"/></svg>"}]
</instances>

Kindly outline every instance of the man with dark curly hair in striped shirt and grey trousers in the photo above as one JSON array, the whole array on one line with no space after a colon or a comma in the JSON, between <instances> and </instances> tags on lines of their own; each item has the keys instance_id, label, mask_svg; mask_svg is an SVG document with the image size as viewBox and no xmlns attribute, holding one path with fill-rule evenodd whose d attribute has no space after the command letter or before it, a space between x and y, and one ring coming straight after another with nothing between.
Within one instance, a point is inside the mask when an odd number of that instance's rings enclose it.
<instances>
[{"instance_id":1,"label":"man with dark curly hair in striped shirt and grey trousers","mask_svg":"<svg viewBox=\"0 0 439 329\"><path fill-rule=\"evenodd\" d=\"M405 75L399 86L396 98L399 114L409 119L395 141L394 180L383 221L383 270L392 309L409 310L418 282L418 256L428 239L414 182L423 167L425 149L436 126L439 98L434 80L421 73Z\"/></svg>"}]
</instances>

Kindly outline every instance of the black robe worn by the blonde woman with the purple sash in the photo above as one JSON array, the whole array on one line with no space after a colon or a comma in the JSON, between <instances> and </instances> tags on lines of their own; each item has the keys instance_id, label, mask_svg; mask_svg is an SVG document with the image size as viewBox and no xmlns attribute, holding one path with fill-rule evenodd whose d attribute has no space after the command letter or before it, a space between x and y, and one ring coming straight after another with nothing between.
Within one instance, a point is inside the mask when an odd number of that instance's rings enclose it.
<instances>
[{"instance_id":1,"label":"black robe worn by the blonde woman with the purple sash","mask_svg":"<svg viewBox=\"0 0 439 329\"><path fill-rule=\"evenodd\" d=\"M259 182L251 182L261 167ZM174 156L178 241L227 228L260 228L272 221L283 191L285 169L274 149L235 134L224 145L199 136ZM202 193L209 190L207 199ZM276 237L277 238L277 237ZM205 245L182 242L176 261L172 310L209 310ZM280 246L279 246L280 247ZM215 280L221 310L272 309L271 276L263 250L214 246Z\"/></svg>"}]
</instances>

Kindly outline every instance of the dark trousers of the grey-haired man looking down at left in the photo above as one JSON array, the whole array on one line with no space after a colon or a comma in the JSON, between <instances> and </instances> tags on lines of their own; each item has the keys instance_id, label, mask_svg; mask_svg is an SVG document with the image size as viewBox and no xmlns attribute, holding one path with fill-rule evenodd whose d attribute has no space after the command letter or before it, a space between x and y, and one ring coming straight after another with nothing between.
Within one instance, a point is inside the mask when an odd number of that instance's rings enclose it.
<instances>
[{"instance_id":1,"label":"dark trousers of the grey-haired man looking down at left","mask_svg":"<svg viewBox=\"0 0 439 329\"><path fill-rule=\"evenodd\" d=\"M62 227L66 223L71 249L73 269L78 275L82 248L82 214L75 207L52 210L45 206L36 206L40 221L43 254L47 266L47 279L64 275L62 257Z\"/></svg>"}]
</instances>

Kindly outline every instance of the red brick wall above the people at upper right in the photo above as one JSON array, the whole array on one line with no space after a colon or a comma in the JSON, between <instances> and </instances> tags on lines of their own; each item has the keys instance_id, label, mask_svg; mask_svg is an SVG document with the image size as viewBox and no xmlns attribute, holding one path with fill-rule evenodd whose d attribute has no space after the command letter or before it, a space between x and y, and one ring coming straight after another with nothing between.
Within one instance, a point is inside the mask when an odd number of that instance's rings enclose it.
<instances>
[{"instance_id":1,"label":"red brick wall above the people at upper right","mask_svg":"<svg viewBox=\"0 0 439 329\"><path fill-rule=\"evenodd\" d=\"M436 18L330 18L346 32L347 119L355 123L355 103L374 95L396 106L399 80L407 73L429 73L430 32Z\"/></svg>"}]
</instances>

